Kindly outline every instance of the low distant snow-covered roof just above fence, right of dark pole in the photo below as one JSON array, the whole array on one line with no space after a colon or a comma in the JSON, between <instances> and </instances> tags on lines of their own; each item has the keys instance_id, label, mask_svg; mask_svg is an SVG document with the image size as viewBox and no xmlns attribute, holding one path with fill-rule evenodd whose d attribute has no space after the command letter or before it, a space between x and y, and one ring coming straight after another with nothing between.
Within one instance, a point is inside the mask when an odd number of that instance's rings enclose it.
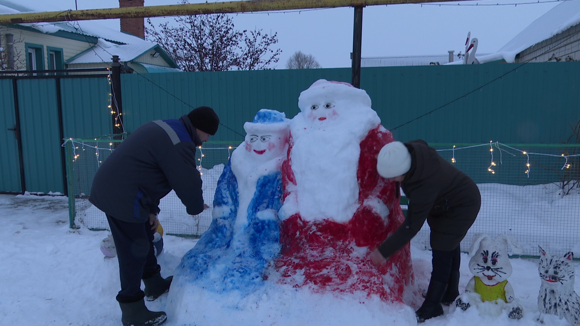
<instances>
[{"instance_id":1,"label":"low distant snow-covered roof just above fence, right of dark pole","mask_svg":"<svg viewBox=\"0 0 580 326\"><path fill-rule=\"evenodd\" d=\"M476 57L485 54L476 53ZM454 62L463 62L463 57L454 55ZM429 66L430 64L449 63L449 53L446 55L422 56L390 56L390 57L363 57L361 67L400 67L400 66Z\"/></svg>"}]
</instances>

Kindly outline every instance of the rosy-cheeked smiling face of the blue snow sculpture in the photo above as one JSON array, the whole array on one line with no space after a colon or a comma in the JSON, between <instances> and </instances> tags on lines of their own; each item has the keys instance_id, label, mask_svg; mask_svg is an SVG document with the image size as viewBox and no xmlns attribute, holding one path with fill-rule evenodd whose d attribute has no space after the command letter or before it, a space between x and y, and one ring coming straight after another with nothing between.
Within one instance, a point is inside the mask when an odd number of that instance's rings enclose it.
<instances>
[{"instance_id":1,"label":"rosy-cheeked smiling face of the blue snow sculpture","mask_svg":"<svg viewBox=\"0 0 580 326\"><path fill-rule=\"evenodd\" d=\"M253 160L259 162L269 161L284 154L287 143L287 136L283 136L281 133L270 132L263 135L249 133L245 137L245 149Z\"/></svg>"}]
</instances>

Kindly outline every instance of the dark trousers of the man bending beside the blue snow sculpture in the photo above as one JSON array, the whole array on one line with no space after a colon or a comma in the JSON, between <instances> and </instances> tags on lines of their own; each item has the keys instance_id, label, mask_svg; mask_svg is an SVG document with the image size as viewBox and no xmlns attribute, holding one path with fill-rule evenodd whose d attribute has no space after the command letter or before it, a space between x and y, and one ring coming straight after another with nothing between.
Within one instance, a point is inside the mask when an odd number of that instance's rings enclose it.
<instances>
[{"instance_id":1,"label":"dark trousers of the man bending beside the blue snow sculpture","mask_svg":"<svg viewBox=\"0 0 580 326\"><path fill-rule=\"evenodd\" d=\"M117 301L139 301L145 296L141 291L142 278L154 276L161 270L153 249L155 230L151 230L148 220L144 223L129 223L110 215L107 215L107 220L119 260L121 291Z\"/></svg>"}]
</instances>

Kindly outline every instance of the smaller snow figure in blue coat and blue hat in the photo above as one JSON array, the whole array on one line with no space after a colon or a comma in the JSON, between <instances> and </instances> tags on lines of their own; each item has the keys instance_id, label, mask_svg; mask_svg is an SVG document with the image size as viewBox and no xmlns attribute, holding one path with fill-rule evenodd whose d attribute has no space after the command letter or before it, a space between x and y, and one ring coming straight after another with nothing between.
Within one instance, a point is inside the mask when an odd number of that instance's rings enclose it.
<instances>
[{"instance_id":1,"label":"smaller snow figure in blue coat and blue hat","mask_svg":"<svg viewBox=\"0 0 580 326\"><path fill-rule=\"evenodd\" d=\"M218 293L249 293L262 284L266 267L280 252L281 165L289 120L278 111L260 110L244 129L245 142L218 180L212 223L176 268L170 302L187 283Z\"/></svg>"}]
</instances>

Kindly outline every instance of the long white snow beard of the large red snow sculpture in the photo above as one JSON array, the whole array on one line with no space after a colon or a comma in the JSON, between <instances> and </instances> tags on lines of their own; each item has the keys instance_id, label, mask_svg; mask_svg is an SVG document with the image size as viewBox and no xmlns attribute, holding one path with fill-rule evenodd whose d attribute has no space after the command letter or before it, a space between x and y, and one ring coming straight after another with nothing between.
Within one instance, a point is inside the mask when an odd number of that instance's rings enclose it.
<instances>
[{"instance_id":1,"label":"long white snow beard of the large red snow sculpture","mask_svg":"<svg viewBox=\"0 0 580 326\"><path fill-rule=\"evenodd\" d=\"M360 143L380 124L370 107L342 109L339 119L312 126L299 113L292 119L292 171L296 197L289 196L281 210L299 212L303 220L348 222L358 208L357 169ZM295 207L296 206L296 207Z\"/></svg>"}]
</instances>

